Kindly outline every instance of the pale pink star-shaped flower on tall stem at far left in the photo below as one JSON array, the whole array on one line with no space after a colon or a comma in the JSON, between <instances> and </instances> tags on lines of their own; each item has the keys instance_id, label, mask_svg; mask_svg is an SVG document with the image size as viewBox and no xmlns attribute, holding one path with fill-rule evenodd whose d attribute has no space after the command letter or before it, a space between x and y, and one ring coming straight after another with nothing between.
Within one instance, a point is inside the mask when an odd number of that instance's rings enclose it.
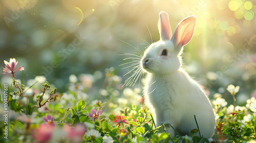
<instances>
[{"instance_id":1,"label":"pale pink star-shaped flower on tall stem at far left","mask_svg":"<svg viewBox=\"0 0 256 143\"><path fill-rule=\"evenodd\" d=\"M16 67L16 65L18 64L18 62L16 62L15 58L11 58L10 62L4 61L5 62L5 68L4 68L4 72L3 74L11 74L12 78L15 79L14 77L14 73L16 73L18 70L24 70L23 66L19 66L16 70L14 70L14 68Z\"/></svg>"}]
</instances>

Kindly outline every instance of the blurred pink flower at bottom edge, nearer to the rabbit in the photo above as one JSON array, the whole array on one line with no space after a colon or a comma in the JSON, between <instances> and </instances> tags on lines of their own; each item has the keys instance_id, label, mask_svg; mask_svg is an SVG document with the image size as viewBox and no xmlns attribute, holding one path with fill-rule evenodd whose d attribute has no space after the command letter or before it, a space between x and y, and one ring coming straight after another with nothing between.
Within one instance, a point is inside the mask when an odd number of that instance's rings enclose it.
<instances>
[{"instance_id":1,"label":"blurred pink flower at bottom edge, nearer to the rabbit","mask_svg":"<svg viewBox=\"0 0 256 143\"><path fill-rule=\"evenodd\" d=\"M82 123L76 124L74 127L67 125L63 129L67 132L68 138L74 139L78 142L80 142L84 133L87 131L86 125Z\"/></svg>"}]
</instances>

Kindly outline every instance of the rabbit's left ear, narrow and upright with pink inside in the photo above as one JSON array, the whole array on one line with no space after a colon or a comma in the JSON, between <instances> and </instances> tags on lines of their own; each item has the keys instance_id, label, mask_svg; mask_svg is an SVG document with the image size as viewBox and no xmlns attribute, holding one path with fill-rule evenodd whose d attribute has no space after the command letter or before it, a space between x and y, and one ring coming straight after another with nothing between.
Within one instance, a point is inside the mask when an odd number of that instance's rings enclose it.
<instances>
[{"instance_id":1,"label":"rabbit's left ear, narrow and upright with pink inside","mask_svg":"<svg viewBox=\"0 0 256 143\"><path fill-rule=\"evenodd\" d=\"M166 12L161 11L159 13L158 30L160 33L160 39L162 41L170 40L172 37L172 30L170 29L169 16Z\"/></svg>"}]
</instances>

